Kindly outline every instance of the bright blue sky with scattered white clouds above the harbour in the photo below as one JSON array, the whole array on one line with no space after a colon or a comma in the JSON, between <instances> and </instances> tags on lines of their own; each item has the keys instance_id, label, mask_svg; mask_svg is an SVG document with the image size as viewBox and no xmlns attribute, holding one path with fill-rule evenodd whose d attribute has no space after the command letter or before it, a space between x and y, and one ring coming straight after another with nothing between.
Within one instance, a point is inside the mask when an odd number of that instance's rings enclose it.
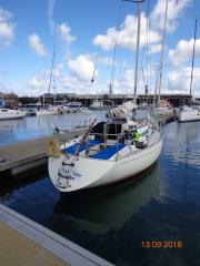
<instances>
[{"instance_id":1,"label":"bright blue sky with scattered white clouds above the harbour","mask_svg":"<svg viewBox=\"0 0 200 266\"><path fill-rule=\"evenodd\" d=\"M166 0L142 2L138 94L154 92ZM189 93L198 0L168 0L162 93ZM0 91L133 93L138 4L121 0L0 0ZM200 21L194 96L200 96ZM54 51L54 57L53 57ZM93 82L91 80L93 79Z\"/></svg>"}]
</instances>

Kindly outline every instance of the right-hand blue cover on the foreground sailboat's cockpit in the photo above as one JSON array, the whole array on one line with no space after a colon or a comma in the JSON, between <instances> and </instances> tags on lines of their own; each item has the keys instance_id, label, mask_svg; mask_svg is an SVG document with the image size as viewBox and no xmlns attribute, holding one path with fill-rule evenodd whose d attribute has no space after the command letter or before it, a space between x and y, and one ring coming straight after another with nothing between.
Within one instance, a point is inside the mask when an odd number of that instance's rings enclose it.
<instances>
[{"instance_id":1,"label":"right-hand blue cover on the foreground sailboat's cockpit","mask_svg":"<svg viewBox=\"0 0 200 266\"><path fill-rule=\"evenodd\" d=\"M114 145L110 145L110 146L99 151L98 153L90 155L89 157L108 160L108 158L112 157L114 155L114 153L122 150L124 146L126 146L124 143L118 143Z\"/></svg>"}]
</instances>

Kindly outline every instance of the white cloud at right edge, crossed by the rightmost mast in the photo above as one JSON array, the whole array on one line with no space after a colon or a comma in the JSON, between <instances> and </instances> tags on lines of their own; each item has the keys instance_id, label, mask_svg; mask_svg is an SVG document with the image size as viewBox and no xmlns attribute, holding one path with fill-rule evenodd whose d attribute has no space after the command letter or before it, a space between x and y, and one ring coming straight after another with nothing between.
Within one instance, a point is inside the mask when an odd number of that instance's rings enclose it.
<instances>
[{"instance_id":1,"label":"white cloud at right edge, crossed by the rightmost mast","mask_svg":"<svg viewBox=\"0 0 200 266\"><path fill-rule=\"evenodd\" d=\"M191 61L193 51L193 39L180 40L174 50L169 51L169 60L171 64L178 65L187 61ZM200 39L196 40L196 55L200 55Z\"/></svg>"}]
</instances>

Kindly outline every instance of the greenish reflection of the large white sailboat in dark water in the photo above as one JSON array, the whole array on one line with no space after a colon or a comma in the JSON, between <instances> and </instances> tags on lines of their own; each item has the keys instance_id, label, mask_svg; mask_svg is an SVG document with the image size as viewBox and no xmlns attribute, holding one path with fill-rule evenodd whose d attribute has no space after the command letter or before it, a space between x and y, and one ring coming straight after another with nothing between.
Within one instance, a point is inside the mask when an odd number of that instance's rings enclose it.
<instances>
[{"instance_id":1,"label":"greenish reflection of the large white sailboat in dark water","mask_svg":"<svg viewBox=\"0 0 200 266\"><path fill-rule=\"evenodd\" d=\"M147 176L148 178L142 178ZM103 197L88 198L88 202L78 203L60 200L53 209L51 225L53 229L63 232L70 224L77 229L86 229L97 233L106 233L109 229L120 229L130 219L133 213L144 206L153 196L159 194L159 165L143 173L142 180L137 184L132 182L120 183L114 187L103 188ZM108 194L108 195L107 195ZM64 225L63 228L60 227ZM58 228L56 228L58 225Z\"/></svg>"}]
</instances>

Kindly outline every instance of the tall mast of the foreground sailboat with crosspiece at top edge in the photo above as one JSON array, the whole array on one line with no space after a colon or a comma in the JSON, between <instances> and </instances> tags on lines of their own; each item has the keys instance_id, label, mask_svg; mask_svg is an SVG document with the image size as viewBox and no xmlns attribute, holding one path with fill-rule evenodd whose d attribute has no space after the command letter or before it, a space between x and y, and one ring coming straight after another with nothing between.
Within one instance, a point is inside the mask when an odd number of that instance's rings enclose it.
<instances>
[{"instance_id":1,"label":"tall mast of the foreground sailboat with crosspiece at top edge","mask_svg":"<svg viewBox=\"0 0 200 266\"><path fill-rule=\"evenodd\" d=\"M144 0L123 0L123 1L138 3L137 52L136 52L134 94L133 94L133 100L136 102L137 101L137 89L138 89L138 61L139 61L139 50L140 50L141 10L142 10L142 2Z\"/></svg>"}]
</instances>

